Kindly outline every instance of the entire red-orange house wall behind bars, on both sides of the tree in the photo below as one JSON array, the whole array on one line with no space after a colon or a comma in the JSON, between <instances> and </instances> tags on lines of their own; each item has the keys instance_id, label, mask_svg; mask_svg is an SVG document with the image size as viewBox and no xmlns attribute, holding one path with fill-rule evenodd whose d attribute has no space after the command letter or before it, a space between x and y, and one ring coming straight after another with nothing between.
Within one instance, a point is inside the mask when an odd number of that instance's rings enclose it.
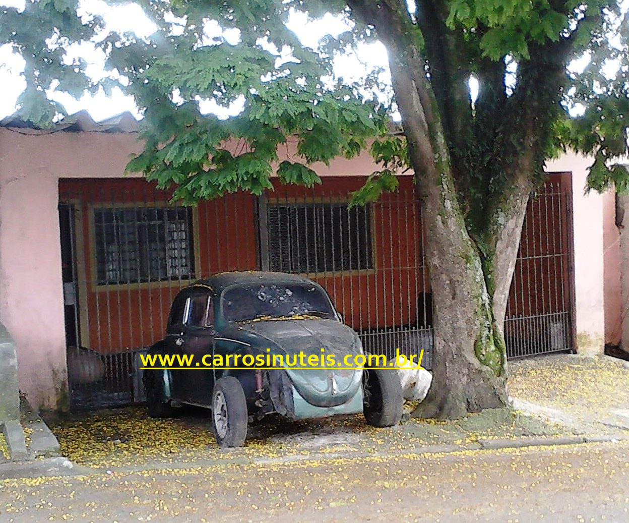
<instances>
[{"instance_id":1,"label":"entire red-orange house wall behind bars, on both sides of the tree","mask_svg":"<svg viewBox=\"0 0 629 523\"><path fill-rule=\"evenodd\" d=\"M269 201L347 201L364 177L325 177L315 188L282 186L267 194ZM566 188L569 176L552 174L540 198L528 206L518 264L508 303L508 317L528 317L570 308L567 250L569 216ZM568 193L569 194L569 193ZM123 286L96 284L93 252L93 206L135 205L169 201L171 193L154 189L142 179L62 180L60 200L74 201L78 261L86 277L80 288L82 314L87 318L82 343L99 352L119 352L150 346L164 335L170 303L189 280ZM203 201L194 210L196 276L228 270L259 269L256 199L245 193ZM401 177L396 193L372 204L373 268L344 273L313 274L330 293L345 322L357 330L399 327L418 322L418 300L429 291L421 247L421 218L412 178ZM80 237L79 237L80 235ZM81 247L82 244L82 247ZM421 300L420 300L421 306ZM423 318L420 308L420 320Z\"/></svg>"}]
</instances>

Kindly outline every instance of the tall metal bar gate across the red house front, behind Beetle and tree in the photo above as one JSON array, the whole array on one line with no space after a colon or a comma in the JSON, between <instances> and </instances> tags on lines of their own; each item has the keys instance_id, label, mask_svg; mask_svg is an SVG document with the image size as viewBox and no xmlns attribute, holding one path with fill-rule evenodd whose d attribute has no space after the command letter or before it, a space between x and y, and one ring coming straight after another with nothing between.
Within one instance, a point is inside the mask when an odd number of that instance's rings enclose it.
<instances>
[{"instance_id":1,"label":"tall metal bar gate across the red house front, behind Beetle and tree","mask_svg":"<svg viewBox=\"0 0 629 523\"><path fill-rule=\"evenodd\" d=\"M572 347L569 183L554 176L526 214L506 320L509 357ZM348 206L364 177L277 185L195 207L142 179L60 181L72 408L142 399L138 352L164 335L176 293L228 270L306 274L330 293L365 350L432 358L432 300L415 186Z\"/></svg>"}]
</instances>

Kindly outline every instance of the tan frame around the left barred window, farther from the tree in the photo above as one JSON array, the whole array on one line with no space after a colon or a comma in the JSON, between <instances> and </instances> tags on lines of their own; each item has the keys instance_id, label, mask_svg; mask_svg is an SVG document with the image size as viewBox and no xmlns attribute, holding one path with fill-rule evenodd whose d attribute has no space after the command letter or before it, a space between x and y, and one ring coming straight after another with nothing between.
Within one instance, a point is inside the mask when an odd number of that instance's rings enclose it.
<instances>
[{"instance_id":1,"label":"tan frame around the left barred window, farther from the tree","mask_svg":"<svg viewBox=\"0 0 629 523\"><path fill-rule=\"evenodd\" d=\"M172 206L169 205L168 201L125 201L125 202L97 202L97 203L89 203L84 211L87 213L88 227L89 227L89 274L91 276L90 290L96 293L107 293L112 290L123 291L123 290L138 290L138 289L152 289L152 288L169 288L169 287L180 287L183 284L188 284L191 281L194 281L198 278L198 267L201 266L201 257L200 250L198 248L200 244L200 236L199 236L199 211L196 206L186 206L179 205L178 207L185 207L189 210L190 213L190 225L192 227L191 235L189 236L191 244L191 261L192 261L192 271L189 276L186 277L171 277L165 279L142 279L140 281L133 282L123 282L123 283L114 283L114 282L106 282L101 281L98 278L98 269L97 269L97 244L96 244L96 227L98 227L96 223L96 211L97 210L117 210L122 208L134 208L134 209L152 209L152 208L164 208L169 209Z\"/></svg>"}]
</instances>

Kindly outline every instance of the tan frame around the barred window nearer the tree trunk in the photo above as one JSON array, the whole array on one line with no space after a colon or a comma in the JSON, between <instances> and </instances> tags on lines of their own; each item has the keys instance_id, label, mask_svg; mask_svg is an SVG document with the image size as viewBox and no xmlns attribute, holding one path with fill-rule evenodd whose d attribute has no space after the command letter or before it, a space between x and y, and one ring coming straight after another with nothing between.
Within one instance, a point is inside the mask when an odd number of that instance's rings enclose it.
<instances>
[{"instance_id":1,"label":"tan frame around the barred window nearer the tree trunk","mask_svg":"<svg viewBox=\"0 0 629 523\"><path fill-rule=\"evenodd\" d=\"M270 246L269 246L269 205L287 205L287 206L299 206L299 205L316 205L316 204L330 204L330 205L349 205L350 199L340 196L312 196L312 197L300 197L294 198L279 197L279 196L259 196L258 198L258 239L259 239L259 251L260 251L260 265L263 271L270 271ZM378 268L378 249L376 244L376 237L374 235L374 223L375 223L375 208L374 205L369 205L369 244L371 247L371 264L366 269L335 269L333 271L318 271L308 273L295 273L306 276L307 278L318 278L323 276L347 276L347 275L359 275L359 274L375 274Z\"/></svg>"}]
</instances>

